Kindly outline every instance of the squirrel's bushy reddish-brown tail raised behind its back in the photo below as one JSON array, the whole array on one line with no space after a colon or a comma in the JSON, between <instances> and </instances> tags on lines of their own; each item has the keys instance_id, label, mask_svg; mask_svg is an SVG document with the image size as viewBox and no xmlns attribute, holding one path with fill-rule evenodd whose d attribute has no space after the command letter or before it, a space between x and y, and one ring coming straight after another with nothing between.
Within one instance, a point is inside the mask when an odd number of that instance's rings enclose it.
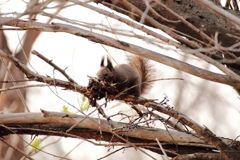
<instances>
[{"instance_id":1,"label":"squirrel's bushy reddish-brown tail raised behind its back","mask_svg":"<svg viewBox=\"0 0 240 160\"><path fill-rule=\"evenodd\" d=\"M154 68L149 60L140 56L129 56L129 64L138 71L141 76L141 94L150 90L154 80Z\"/></svg>"}]
</instances>

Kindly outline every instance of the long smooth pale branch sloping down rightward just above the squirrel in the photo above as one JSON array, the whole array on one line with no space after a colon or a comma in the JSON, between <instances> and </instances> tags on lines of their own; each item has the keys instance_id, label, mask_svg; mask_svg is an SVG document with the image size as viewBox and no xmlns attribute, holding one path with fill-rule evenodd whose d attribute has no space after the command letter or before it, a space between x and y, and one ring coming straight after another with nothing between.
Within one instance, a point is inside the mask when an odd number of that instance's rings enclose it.
<instances>
[{"instance_id":1,"label":"long smooth pale branch sloping down rightward just above the squirrel","mask_svg":"<svg viewBox=\"0 0 240 160\"><path fill-rule=\"evenodd\" d=\"M238 81L230 78L229 76L210 72L210 71L195 67L193 65L190 65L188 63L181 62L174 58L162 55L160 53L157 53L157 52L154 52L151 50L147 50L140 46L136 46L136 45L126 43L123 41L118 41L113 38L110 38L110 37L107 37L107 36L104 36L101 34L93 33L91 31L77 28L77 27L74 27L71 25L59 24L59 23L58 24L52 23L52 25L50 25L50 24L44 24L44 23L39 23L39 22L26 22L26 21L22 21L22 20L17 20L17 21L11 22L8 25L22 27L25 29L52 31L52 32L66 32L66 33L74 34L77 36L87 38L87 39L97 42L97 43L105 44L105 45L108 45L108 46L111 46L114 48L119 48L119 49L122 49L122 50L125 50L128 52L137 54L139 56L149 58L151 60L163 63L170 67L176 68L178 70L187 72L189 74L195 75L197 77L200 77L200 78L203 78L206 80L227 84L227 85L233 86L235 88L240 88L240 83ZM234 76L234 75L232 75L232 76ZM238 78L238 76L236 77L236 79L237 78Z\"/></svg>"}]
</instances>

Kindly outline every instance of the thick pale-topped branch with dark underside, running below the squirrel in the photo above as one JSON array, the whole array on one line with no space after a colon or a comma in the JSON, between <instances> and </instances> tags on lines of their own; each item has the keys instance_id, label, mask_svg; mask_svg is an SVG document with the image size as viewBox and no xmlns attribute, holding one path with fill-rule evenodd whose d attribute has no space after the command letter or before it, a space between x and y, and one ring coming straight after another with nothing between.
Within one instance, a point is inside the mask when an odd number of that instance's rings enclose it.
<instances>
[{"instance_id":1,"label":"thick pale-topped branch with dark underside, running below the squirrel","mask_svg":"<svg viewBox=\"0 0 240 160\"><path fill-rule=\"evenodd\" d=\"M136 146L144 148L148 148L148 146L156 147L155 139L157 138L165 149L172 150L172 152L169 152L170 156L174 156L174 152L179 154L212 153L212 150L216 149L203 140L184 132L153 129L137 125L134 129L130 129L132 127L127 123L111 121L111 124L108 124L106 120L75 114L46 111L42 111L42 113L3 114L0 115L0 123L0 136L8 134L43 134L123 143L121 139L112 135L112 132L114 132L128 139L129 142L134 143ZM73 125L74 128L69 130ZM110 125L113 127L113 131ZM150 150L161 153L158 147Z\"/></svg>"}]
</instances>

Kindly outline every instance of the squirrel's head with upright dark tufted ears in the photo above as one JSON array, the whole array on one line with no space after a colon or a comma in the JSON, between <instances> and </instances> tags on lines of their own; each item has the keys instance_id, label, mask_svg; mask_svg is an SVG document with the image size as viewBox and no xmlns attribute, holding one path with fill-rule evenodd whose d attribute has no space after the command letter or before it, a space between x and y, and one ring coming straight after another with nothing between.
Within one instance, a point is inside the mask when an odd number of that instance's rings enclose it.
<instances>
[{"instance_id":1,"label":"squirrel's head with upright dark tufted ears","mask_svg":"<svg viewBox=\"0 0 240 160\"><path fill-rule=\"evenodd\" d=\"M114 69L111 61L107 58L107 66L104 66L104 57L102 58L100 69L97 72L97 78L101 81L111 82L113 80Z\"/></svg>"}]
</instances>

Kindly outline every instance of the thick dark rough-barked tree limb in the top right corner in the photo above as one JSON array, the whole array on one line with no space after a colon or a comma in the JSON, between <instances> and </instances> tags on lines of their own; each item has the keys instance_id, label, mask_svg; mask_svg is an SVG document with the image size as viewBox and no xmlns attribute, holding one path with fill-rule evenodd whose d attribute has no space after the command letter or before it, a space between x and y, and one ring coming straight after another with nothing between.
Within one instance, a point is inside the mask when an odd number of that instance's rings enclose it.
<instances>
[{"instance_id":1,"label":"thick dark rough-barked tree limb in the top right corner","mask_svg":"<svg viewBox=\"0 0 240 160\"><path fill-rule=\"evenodd\" d=\"M109 7L113 10L116 10L117 12L123 13L125 15L128 15L130 18L136 21L140 21L142 18L141 15L137 14L136 11L132 8L128 8L126 6L126 3L124 0L95 0L96 3L101 3L106 7ZM146 10L146 1L138 1L138 0L128 0L129 3L131 3L133 6L144 12ZM218 16L218 14L215 14L212 12L212 8L210 6L208 9L204 8L203 3L206 2L199 2L195 0L167 0L167 1L158 1L165 6L167 6L170 10L174 11L176 14L181 16L182 18L186 19L189 23L193 24L196 28L199 28L200 30L204 30L204 33L206 33L208 36L214 36L215 32L220 33L219 35L219 41L223 43L224 46L231 46L237 42L236 39L229 37L228 34L240 36L239 32L232 30L231 24L232 22L227 20L229 16L227 15L221 15L221 17ZM207 3L207 2L206 2ZM201 4L201 5L199 5ZM179 18L174 16L173 14L169 14L169 11L164 9L163 7L159 7L157 5L157 2L155 0L151 1L149 3L153 10L157 12L158 15L161 15L167 20L178 22ZM202 6L204 5L204 6ZM213 4L212 4L213 5ZM220 8L219 6L217 6ZM231 17L235 17L235 19L239 19L240 13L234 12L231 10L225 9L225 12L228 12L228 15ZM135 14L134 14L135 13ZM219 13L219 12L218 12ZM191 37L195 37L197 39L200 39L202 41L205 41L206 39L202 39L202 37L199 35L199 32L194 31L192 28L189 28L189 26L186 26L184 23L172 23L171 21L166 21L165 19L159 19L158 16L151 12L147 12L147 14L158 21L159 23L168 26L169 28L174 28L176 31L182 32L186 35L189 35ZM224 17L224 18L223 18ZM239 21L239 20L238 20ZM144 24L153 26L148 21L143 21ZM238 24L239 25L239 24Z\"/></svg>"}]
</instances>

